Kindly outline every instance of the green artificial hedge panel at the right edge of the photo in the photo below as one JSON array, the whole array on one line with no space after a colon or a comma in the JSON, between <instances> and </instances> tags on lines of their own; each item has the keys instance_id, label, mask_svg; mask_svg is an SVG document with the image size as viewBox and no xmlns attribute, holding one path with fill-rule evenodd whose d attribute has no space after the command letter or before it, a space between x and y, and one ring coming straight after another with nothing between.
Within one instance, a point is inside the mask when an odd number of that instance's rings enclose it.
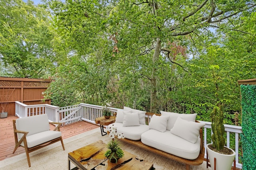
<instances>
[{"instance_id":1,"label":"green artificial hedge panel at the right edge of the photo","mask_svg":"<svg viewBox=\"0 0 256 170\"><path fill-rule=\"evenodd\" d=\"M243 170L256 169L256 86L241 85Z\"/></svg>"}]
</instances>

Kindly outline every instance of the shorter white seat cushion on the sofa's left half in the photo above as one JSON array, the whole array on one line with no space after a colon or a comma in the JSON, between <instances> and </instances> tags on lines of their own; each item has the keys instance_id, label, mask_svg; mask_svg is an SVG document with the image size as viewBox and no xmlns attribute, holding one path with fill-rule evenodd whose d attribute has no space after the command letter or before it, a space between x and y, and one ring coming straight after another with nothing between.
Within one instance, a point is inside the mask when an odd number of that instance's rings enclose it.
<instances>
[{"instance_id":1,"label":"shorter white seat cushion on the sofa's left half","mask_svg":"<svg viewBox=\"0 0 256 170\"><path fill-rule=\"evenodd\" d=\"M140 124L139 126L123 127L123 123L115 122L108 126L112 126L112 125L114 125L114 127L117 128L118 134L123 133L126 139L130 139L134 141L140 140L141 134L149 130L148 125L142 125L142 124Z\"/></svg>"}]
</instances>

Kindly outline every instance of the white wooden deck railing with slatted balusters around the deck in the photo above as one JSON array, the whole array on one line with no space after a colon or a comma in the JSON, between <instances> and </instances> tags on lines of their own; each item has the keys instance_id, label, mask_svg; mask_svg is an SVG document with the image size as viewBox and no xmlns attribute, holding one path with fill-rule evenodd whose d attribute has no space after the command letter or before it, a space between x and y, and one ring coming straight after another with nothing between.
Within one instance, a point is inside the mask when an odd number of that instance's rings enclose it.
<instances>
[{"instance_id":1,"label":"white wooden deck railing with slatted balusters around the deck","mask_svg":"<svg viewBox=\"0 0 256 170\"><path fill-rule=\"evenodd\" d=\"M117 112L118 108L109 107L112 113ZM122 110L122 109L121 109ZM18 117L28 117L38 114L48 114L49 121L53 122L62 122L64 124L74 123L76 121L88 121L94 123L94 120L97 117L102 117L102 106L84 104L66 107L57 107L49 104L41 105L26 105L20 102L15 102L15 112ZM148 122L150 121L151 116L147 115ZM207 129L211 129L211 122L200 121L206 123L204 126L204 148L205 148L205 158L206 158L206 139L209 138L207 134ZM242 169L242 164L239 161L239 135L242 133L242 127L234 125L224 125L226 131L226 141L227 147L230 147L230 133L235 134L235 152L236 152L236 167ZM232 135L231 135L232 137ZM233 148L232 148L233 149Z\"/></svg>"}]
</instances>

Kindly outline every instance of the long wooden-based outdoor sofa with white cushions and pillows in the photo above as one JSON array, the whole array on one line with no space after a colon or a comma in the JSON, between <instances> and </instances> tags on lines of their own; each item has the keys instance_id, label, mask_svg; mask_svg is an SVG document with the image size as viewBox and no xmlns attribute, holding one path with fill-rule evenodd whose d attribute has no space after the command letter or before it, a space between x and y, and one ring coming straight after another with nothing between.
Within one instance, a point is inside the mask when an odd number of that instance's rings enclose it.
<instances>
[{"instance_id":1,"label":"long wooden-based outdoor sofa with white cushions and pillows","mask_svg":"<svg viewBox=\"0 0 256 170\"><path fill-rule=\"evenodd\" d=\"M189 170L191 165L198 166L204 160L202 127L205 124L195 119L196 114L165 111L154 114L124 107L118 110L116 122L109 126L123 133L125 142L184 163Z\"/></svg>"}]
</instances>

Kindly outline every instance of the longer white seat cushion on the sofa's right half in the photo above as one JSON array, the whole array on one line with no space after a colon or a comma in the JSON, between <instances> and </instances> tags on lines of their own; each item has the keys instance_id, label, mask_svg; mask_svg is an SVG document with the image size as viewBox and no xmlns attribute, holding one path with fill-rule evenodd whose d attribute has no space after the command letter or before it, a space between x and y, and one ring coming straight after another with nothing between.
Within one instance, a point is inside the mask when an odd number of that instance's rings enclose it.
<instances>
[{"instance_id":1,"label":"longer white seat cushion on the sofa's right half","mask_svg":"<svg viewBox=\"0 0 256 170\"><path fill-rule=\"evenodd\" d=\"M170 133L168 130L160 132L150 129L141 135L141 142L150 147L191 160L196 159L200 153L200 138L196 143L191 143Z\"/></svg>"}]
</instances>

